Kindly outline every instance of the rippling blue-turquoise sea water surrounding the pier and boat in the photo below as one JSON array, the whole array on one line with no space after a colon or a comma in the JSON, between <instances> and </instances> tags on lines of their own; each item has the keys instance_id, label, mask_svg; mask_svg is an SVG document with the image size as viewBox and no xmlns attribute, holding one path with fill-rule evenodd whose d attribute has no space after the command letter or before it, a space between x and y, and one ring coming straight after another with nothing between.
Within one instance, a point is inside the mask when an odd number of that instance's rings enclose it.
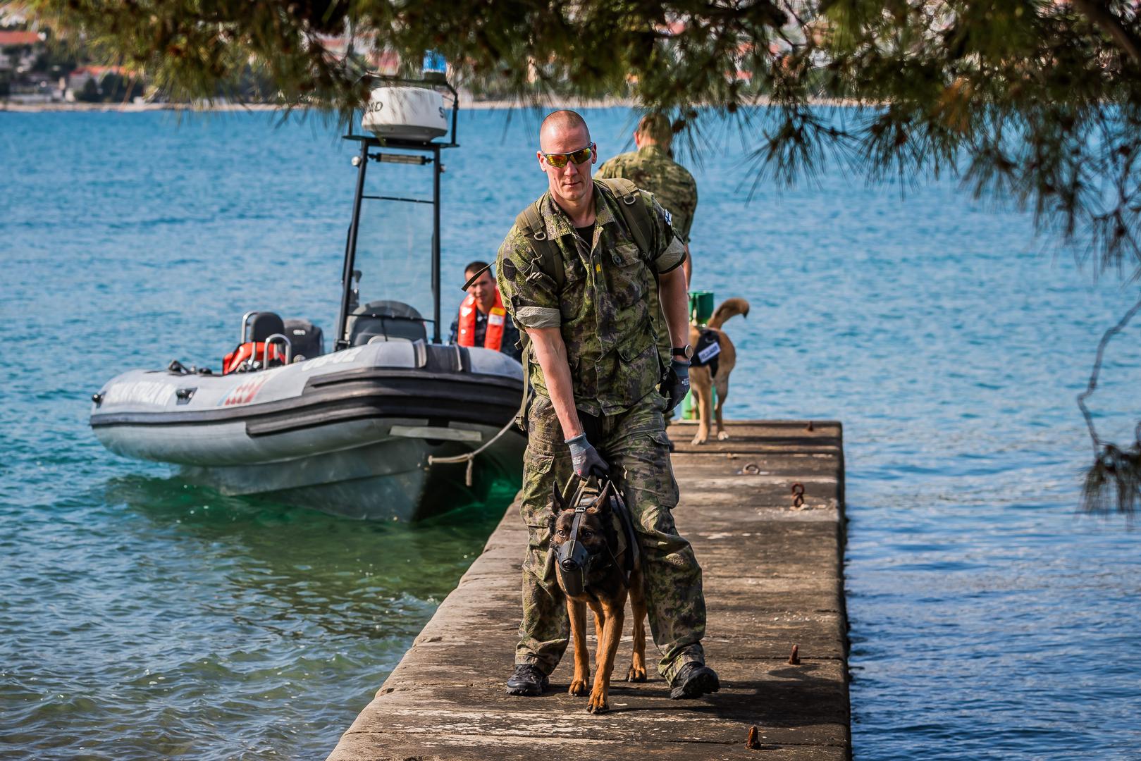
<instances>
[{"instance_id":1,"label":"rippling blue-turquoise sea water surrounding the pier and boat","mask_svg":"<svg viewBox=\"0 0 1141 761\"><path fill-rule=\"evenodd\" d=\"M626 112L588 118L604 157L625 147ZM533 127L461 119L445 282L542 189ZM323 758L494 526L505 496L411 527L224 499L87 427L123 369L217 366L244 310L331 330L353 191L337 135L0 114L0 756ZM950 183L901 197L835 169L746 203L731 130L695 175L694 286L753 307L728 324L729 414L844 422L856 758L1141 758L1141 535L1077 512L1074 405L1135 288ZM371 222L393 251L419 240L397 213ZM422 289L416 267L388 257L390 291ZM1094 397L1118 438L1139 339Z\"/></svg>"}]
</instances>

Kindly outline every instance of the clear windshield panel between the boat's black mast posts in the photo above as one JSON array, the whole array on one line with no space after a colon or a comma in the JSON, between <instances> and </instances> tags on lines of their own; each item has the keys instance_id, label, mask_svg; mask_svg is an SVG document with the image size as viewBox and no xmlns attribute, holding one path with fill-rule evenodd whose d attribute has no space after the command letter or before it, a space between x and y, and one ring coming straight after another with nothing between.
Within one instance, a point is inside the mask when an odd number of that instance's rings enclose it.
<instances>
[{"instance_id":1,"label":"clear windshield panel between the boat's black mast posts","mask_svg":"<svg viewBox=\"0 0 1141 761\"><path fill-rule=\"evenodd\" d=\"M355 260L355 269L361 274L357 309L378 301L407 305L424 318L429 333L431 189L430 164L369 162ZM402 313L396 310L396 314Z\"/></svg>"}]
</instances>

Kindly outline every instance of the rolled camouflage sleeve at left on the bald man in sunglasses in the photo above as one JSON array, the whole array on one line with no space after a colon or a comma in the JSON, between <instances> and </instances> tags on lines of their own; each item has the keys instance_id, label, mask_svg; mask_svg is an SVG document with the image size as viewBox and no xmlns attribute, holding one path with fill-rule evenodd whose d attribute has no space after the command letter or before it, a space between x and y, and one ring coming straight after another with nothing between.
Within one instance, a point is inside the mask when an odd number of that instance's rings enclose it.
<instances>
[{"instance_id":1,"label":"rolled camouflage sleeve at left on the bald man in sunglasses","mask_svg":"<svg viewBox=\"0 0 1141 761\"><path fill-rule=\"evenodd\" d=\"M526 236L512 226L495 259L495 277L503 306L520 327L563 324L555 281L540 269Z\"/></svg>"}]
</instances>

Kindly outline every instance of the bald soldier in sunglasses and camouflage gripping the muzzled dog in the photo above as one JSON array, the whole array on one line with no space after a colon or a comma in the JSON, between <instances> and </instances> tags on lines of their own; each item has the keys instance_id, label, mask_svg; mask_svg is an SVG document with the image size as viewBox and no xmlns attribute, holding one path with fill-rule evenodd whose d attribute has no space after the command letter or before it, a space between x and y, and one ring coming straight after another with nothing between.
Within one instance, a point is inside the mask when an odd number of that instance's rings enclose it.
<instances>
[{"instance_id":1,"label":"bald soldier in sunglasses and camouflage gripping the muzzled dog","mask_svg":"<svg viewBox=\"0 0 1141 761\"><path fill-rule=\"evenodd\" d=\"M649 294L661 289L666 323L687 341L685 245L647 193L636 193L653 221L649 251L639 249L617 199L594 184L586 123L568 111L543 122L537 153L548 192L537 202L547 240L556 244L563 277L544 272L527 230L513 226L496 269L503 302L531 339L523 519L523 623L513 695L539 695L567 647L566 600L555 578L550 547L556 483L566 495L572 473L608 472L630 505L642 547L650 631L662 653L658 671L671 697L715 691L704 665L702 572L673 523L678 486L670 465L663 412L688 390L688 356L672 363L663 390ZM557 281L561 281L561 285ZM685 349L679 349L686 355ZM596 450L597 446L597 450ZM605 459L604 459L605 458Z\"/></svg>"}]
</instances>

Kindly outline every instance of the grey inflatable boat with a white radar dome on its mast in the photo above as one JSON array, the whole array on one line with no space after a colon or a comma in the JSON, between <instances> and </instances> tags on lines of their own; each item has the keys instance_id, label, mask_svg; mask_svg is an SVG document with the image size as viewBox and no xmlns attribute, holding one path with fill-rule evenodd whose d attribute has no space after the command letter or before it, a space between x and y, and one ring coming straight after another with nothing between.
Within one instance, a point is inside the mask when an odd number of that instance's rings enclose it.
<instances>
[{"instance_id":1,"label":"grey inflatable boat with a white radar dome on its mast","mask_svg":"<svg viewBox=\"0 0 1141 761\"><path fill-rule=\"evenodd\" d=\"M450 124L440 89L452 97ZM92 396L99 442L224 494L353 518L415 519L479 499L495 479L517 483L523 369L440 341L440 151L458 146L456 108L446 82L378 78L362 120L371 133L346 136L359 153L332 351L308 321L246 313L220 370L176 361L108 381ZM430 201L366 193L369 165L383 162L430 165ZM362 302L362 278L383 275L357 256L366 200L432 205L430 317L393 299Z\"/></svg>"}]
</instances>

